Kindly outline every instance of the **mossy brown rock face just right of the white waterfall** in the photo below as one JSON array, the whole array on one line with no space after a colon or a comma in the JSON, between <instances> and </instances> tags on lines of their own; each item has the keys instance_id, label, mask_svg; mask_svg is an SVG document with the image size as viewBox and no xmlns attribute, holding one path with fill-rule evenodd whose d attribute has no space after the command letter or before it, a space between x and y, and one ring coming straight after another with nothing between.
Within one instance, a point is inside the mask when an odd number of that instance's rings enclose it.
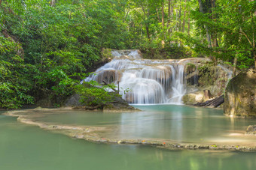
<instances>
[{"instance_id":1,"label":"mossy brown rock face just right of the white waterfall","mask_svg":"<svg viewBox=\"0 0 256 170\"><path fill-rule=\"evenodd\" d=\"M185 75L187 94L184 94L182 100L184 104L194 105L224 94L232 71L221 64L209 66L207 63L189 63L186 64ZM211 95L207 96L205 91Z\"/></svg>"}]
</instances>

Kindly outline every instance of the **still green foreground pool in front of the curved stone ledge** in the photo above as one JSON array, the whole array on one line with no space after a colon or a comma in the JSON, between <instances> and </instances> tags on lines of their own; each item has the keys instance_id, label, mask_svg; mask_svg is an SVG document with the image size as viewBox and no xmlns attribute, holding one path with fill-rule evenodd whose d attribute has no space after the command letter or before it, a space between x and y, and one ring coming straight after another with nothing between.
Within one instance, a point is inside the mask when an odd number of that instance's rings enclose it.
<instances>
[{"instance_id":1,"label":"still green foreground pool in front of the curved stone ledge","mask_svg":"<svg viewBox=\"0 0 256 170\"><path fill-rule=\"evenodd\" d=\"M1 170L255 169L256 153L166 151L72 139L0 115Z\"/></svg>"}]
</instances>

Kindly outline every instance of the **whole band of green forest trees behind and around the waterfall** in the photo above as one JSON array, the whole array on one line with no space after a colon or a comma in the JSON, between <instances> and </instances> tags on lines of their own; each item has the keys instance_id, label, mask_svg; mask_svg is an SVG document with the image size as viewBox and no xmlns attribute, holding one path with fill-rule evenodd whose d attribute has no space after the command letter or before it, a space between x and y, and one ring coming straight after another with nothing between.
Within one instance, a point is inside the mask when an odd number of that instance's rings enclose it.
<instances>
[{"instance_id":1,"label":"whole band of green forest trees behind and around the waterfall","mask_svg":"<svg viewBox=\"0 0 256 170\"><path fill-rule=\"evenodd\" d=\"M102 49L256 66L253 0L0 0L0 108L75 91Z\"/></svg>"}]
</instances>

